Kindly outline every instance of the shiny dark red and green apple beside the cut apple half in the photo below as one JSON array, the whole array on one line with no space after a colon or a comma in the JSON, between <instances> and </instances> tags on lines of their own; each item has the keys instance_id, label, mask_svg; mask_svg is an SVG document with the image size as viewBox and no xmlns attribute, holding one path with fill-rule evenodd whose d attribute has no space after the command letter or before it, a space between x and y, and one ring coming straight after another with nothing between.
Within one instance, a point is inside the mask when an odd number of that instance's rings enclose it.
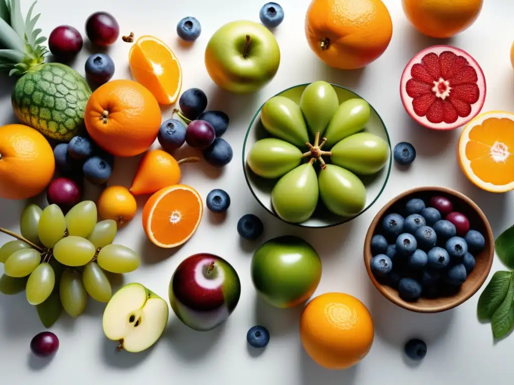
<instances>
[{"instance_id":1,"label":"shiny dark red and green apple beside the cut apple half","mask_svg":"<svg viewBox=\"0 0 514 385\"><path fill-rule=\"evenodd\" d=\"M173 273L170 303L177 317L197 331L222 324L241 296L241 282L225 259L195 254L182 261Z\"/></svg>"}]
</instances>

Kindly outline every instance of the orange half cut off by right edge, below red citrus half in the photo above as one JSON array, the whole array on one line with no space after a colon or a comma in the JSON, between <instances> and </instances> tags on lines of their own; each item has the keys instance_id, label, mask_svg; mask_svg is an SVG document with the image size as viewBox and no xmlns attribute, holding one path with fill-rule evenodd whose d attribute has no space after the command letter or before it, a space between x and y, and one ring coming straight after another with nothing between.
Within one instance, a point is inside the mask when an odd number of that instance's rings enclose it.
<instances>
[{"instance_id":1,"label":"orange half cut off by right edge, below red citrus half","mask_svg":"<svg viewBox=\"0 0 514 385\"><path fill-rule=\"evenodd\" d=\"M468 179L491 192L514 189L514 113L490 111L461 134L458 159Z\"/></svg>"}]
</instances>

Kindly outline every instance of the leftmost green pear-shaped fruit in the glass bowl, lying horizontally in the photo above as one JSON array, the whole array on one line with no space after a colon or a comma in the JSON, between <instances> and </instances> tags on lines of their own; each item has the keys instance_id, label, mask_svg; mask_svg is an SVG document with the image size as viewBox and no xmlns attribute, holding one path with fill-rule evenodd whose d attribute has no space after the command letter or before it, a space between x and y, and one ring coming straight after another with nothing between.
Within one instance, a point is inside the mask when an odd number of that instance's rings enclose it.
<instances>
[{"instance_id":1,"label":"leftmost green pear-shaped fruit in the glass bowl, lying horizontally","mask_svg":"<svg viewBox=\"0 0 514 385\"><path fill-rule=\"evenodd\" d=\"M266 138L256 142L246 162L250 169L263 178L278 178L302 161L302 151L281 139Z\"/></svg>"}]
</instances>

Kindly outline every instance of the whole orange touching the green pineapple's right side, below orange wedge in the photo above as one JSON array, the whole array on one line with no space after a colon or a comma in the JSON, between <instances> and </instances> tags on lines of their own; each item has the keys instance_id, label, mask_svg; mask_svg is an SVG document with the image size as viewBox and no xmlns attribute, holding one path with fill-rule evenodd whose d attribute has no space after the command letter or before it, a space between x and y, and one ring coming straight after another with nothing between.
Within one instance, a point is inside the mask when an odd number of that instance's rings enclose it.
<instances>
[{"instance_id":1,"label":"whole orange touching the green pineapple's right side, below orange wedge","mask_svg":"<svg viewBox=\"0 0 514 385\"><path fill-rule=\"evenodd\" d=\"M84 122L101 148L118 157L132 157L146 151L157 138L161 112L144 86L132 80L114 80L91 94Z\"/></svg>"}]
</instances>

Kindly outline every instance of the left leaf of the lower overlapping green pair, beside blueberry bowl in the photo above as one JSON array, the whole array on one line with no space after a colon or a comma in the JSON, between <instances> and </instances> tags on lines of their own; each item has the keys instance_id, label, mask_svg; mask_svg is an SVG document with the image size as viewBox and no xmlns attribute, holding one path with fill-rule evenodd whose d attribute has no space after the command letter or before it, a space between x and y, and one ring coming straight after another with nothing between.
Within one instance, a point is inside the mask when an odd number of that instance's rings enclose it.
<instances>
[{"instance_id":1,"label":"left leaf of the lower overlapping green pair, beside blueberry bowl","mask_svg":"<svg viewBox=\"0 0 514 385\"><path fill-rule=\"evenodd\" d=\"M476 313L481 321L491 319L509 289L511 272L496 272L479 298Z\"/></svg>"}]
</instances>

